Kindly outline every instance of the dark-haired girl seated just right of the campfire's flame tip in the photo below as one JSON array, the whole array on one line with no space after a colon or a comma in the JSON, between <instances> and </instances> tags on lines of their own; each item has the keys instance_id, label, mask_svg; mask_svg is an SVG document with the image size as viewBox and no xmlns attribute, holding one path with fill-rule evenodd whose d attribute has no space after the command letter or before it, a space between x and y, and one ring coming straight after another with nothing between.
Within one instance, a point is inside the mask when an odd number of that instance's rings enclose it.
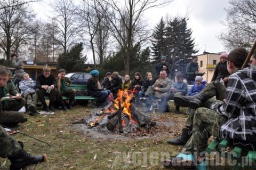
<instances>
[{"instance_id":1,"label":"dark-haired girl seated just right of the campfire's flame tip","mask_svg":"<svg viewBox=\"0 0 256 170\"><path fill-rule=\"evenodd\" d=\"M137 105L140 104L140 100L139 100L139 93L140 91L142 91L142 88L145 86L145 82L144 80L142 79L141 75L139 72L135 72L134 73L134 77L133 77L133 80L130 84L130 87L129 89L130 90L133 90L135 88L135 91L134 91L134 95L135 95L135 103Z\"/></svg>"}]
</instances>

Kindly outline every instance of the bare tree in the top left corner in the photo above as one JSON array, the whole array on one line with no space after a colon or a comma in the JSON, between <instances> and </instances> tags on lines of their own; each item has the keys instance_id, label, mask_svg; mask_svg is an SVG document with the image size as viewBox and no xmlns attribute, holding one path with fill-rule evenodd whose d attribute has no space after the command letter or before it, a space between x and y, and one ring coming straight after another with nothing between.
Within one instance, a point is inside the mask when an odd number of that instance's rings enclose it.
<instances>
[{"instance_id":1,"label":"bare tree in the top left corner","mask_svg":"<svg viewBox=\"0 0 256 170\"><path fill-rule=\"evenodd\" d=\"M28 2L19 0L0 1L0 48L6 59L11 51L18 52L22 44L26 44L33 27L34 14Z\"/></svg>"}]
</instances>

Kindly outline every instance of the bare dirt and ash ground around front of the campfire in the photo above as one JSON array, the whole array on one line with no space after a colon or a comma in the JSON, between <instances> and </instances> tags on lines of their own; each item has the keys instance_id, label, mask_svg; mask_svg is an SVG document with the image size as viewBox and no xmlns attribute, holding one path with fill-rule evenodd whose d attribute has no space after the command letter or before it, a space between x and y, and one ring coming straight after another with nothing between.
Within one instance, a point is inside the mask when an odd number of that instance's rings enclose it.
<instances>
[{"instance_id":1,"label":"bare dirt and ash ground around front of the campfire","mask_svg":"<svg viewBox=\"0 0 256 170\"><path fill-rule=\"evenodd\" d=\"M90 110L90 116L79 117L73 122L79 120L86 120L94 115L96 112L99 112L100 108ZM89 127L85 123L82 124L73 124L71 127L75 131L82 132L87 137L92 139L99 140L129 140L129 139L148 139L148 138L159 138L159 137L175 137L180 133L181 128L184 126L186 121L186 116L175 115L172 113L169 114L149 114L156 122L155 127L143 127L138 128L136 131L131 133L119 133L115 131L109 131L106 127Z\"/></svg>"}]
</instances>

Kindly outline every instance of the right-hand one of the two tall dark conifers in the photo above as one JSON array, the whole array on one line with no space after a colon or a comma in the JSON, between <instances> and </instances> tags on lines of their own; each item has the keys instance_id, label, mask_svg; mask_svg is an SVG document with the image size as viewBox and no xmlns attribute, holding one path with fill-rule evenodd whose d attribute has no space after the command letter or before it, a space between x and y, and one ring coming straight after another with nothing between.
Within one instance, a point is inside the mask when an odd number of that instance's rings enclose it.
<instances>
[{"instance_id":1,"label":"right-hand one of the two tall dark conifers","mask_svg":"<svg viewBox=\"0 0 256 170\"><path fill-rule=\"evenodd\" d=\"M189 62L188 58L197 53L195 50L194 39L191 38L192 31L187 28L186 18L174 18L168 21L166 27L166 46L168 48L167 55L171 56L172 68L185 72ZM174 67L174 68L173 68Z\"/></svg>"}]
</instances>

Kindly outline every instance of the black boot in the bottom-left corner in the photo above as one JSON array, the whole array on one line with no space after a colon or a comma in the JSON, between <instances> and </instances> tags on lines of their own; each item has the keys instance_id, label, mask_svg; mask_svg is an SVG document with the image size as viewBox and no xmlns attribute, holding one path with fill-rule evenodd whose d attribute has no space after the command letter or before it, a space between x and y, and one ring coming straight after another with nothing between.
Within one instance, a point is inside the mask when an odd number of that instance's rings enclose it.
<instances>
[{"instance_id":1,"label":"black boot in the bottom-left corner","mask_svg":"<svg viewBox=\"0 0 256 170\"><path fill-rule=\"evenodd\" d=\"M20 170L31 164L42 163L46 160L43 155L30 155L25 150L20 150L16 155L8 158L11 161L10 170Z\"/></svg>"}]
</instances>

